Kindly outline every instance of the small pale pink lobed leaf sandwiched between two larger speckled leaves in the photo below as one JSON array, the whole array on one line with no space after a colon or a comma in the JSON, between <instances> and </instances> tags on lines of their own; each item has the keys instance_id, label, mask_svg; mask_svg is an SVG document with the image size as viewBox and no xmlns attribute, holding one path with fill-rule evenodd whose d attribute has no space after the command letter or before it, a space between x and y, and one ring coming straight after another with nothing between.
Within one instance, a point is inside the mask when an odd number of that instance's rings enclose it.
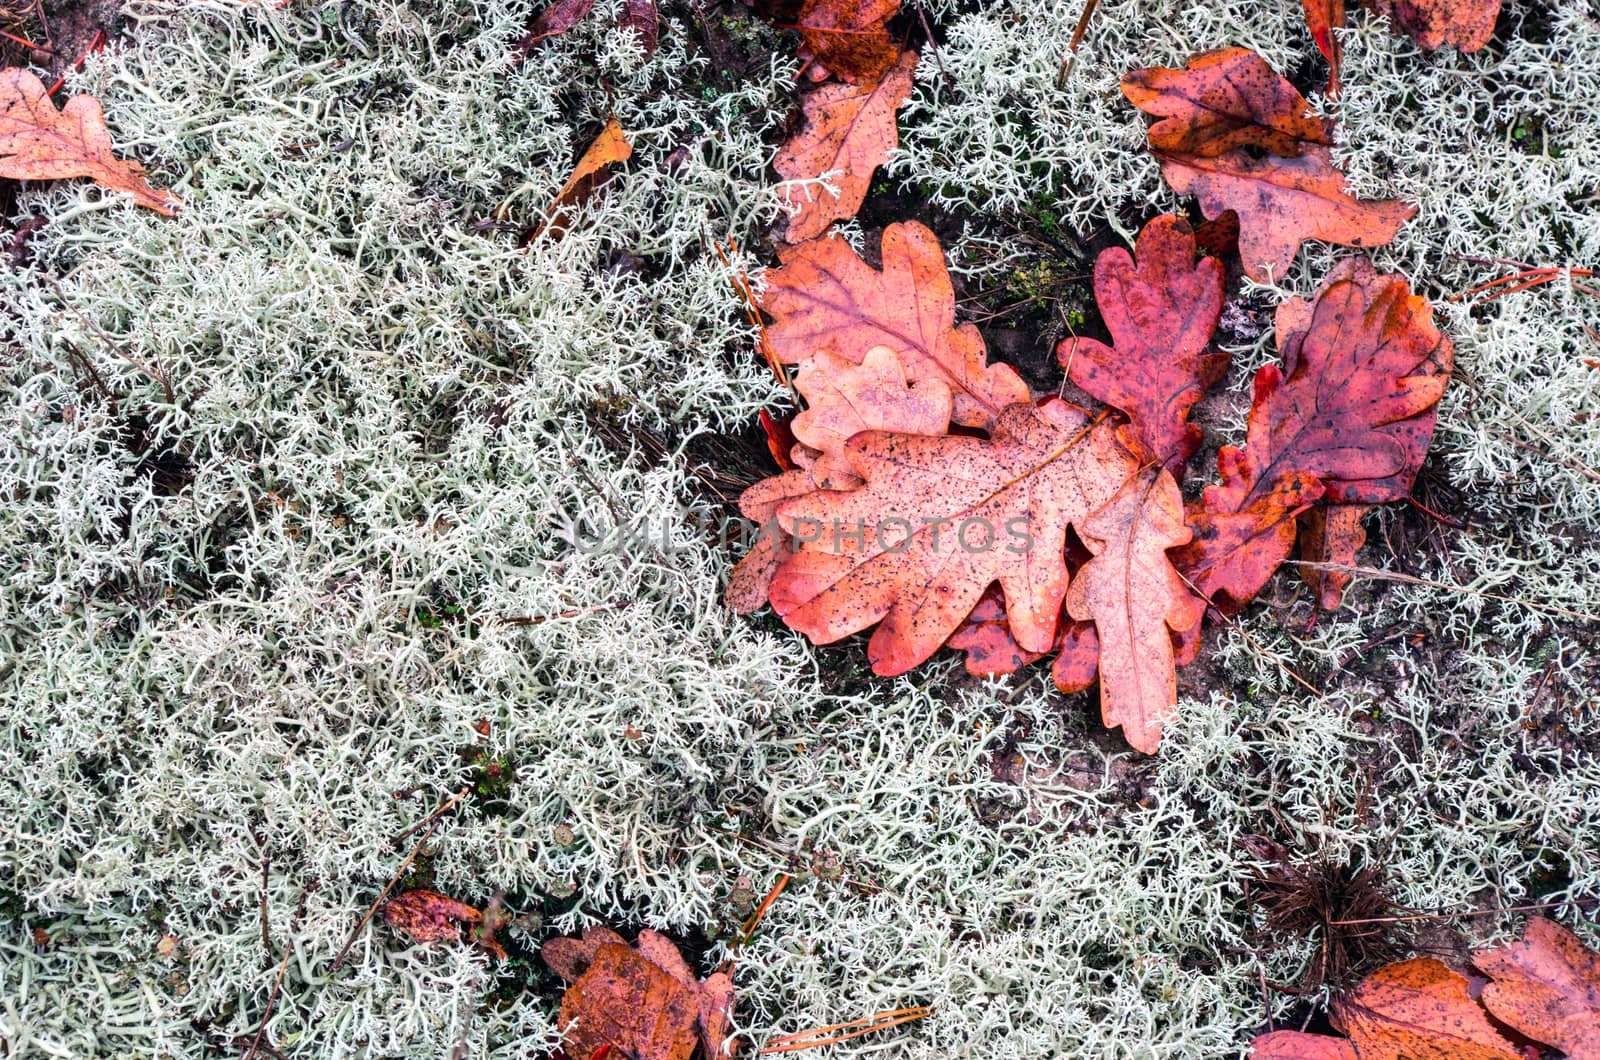
<instances>
[{"instance_id":1,"label":"small pale pink lobed leaf sandwiched between two larger speckled leaves","mask_svg":"<svg viewBox=\"0 0 1600 1060\"><path fill-rule=\"evenodd\" d=\"M818 354L795 375L808 408L795 416L794 432L818 450L811 479L822 490L850 490L861 479L845 460L845 442L862 431L944 434L950 426L950 387L942 379L906 381L899 357L874 346L854 365L834 354Z\"/></svg>"}]
</instances>

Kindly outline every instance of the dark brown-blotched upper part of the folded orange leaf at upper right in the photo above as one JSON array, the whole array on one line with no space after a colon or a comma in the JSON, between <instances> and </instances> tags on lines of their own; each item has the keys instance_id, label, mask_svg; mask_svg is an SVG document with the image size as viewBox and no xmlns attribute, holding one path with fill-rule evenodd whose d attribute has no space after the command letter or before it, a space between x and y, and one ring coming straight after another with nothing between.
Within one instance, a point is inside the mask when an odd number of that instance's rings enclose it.
<instances>
[{"instance_id":1,"label":"dark brown-blotched upper part of the folded orange leaf at upper right","mask_svg":"<svg viewBox=\"0 0 1600 1060\"><path fill-rule=\"evenodd\" d=\"M1331 143L1304 96L1248 48L1203 51L1181 70L1133 70L1122 78L1122 94L1162 117L1149 128L1155 151L1214 159L1254 147L1288 159Z\"/></svg>"}]
</instances>

